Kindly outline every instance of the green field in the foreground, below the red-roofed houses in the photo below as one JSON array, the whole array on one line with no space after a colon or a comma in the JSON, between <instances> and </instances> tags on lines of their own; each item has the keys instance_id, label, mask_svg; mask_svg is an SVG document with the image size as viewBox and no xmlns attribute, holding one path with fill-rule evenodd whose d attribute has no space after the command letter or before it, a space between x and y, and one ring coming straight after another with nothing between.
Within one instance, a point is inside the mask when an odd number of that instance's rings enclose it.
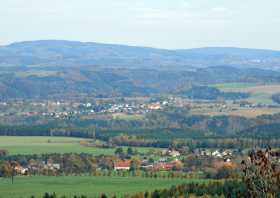
<instances>
[{"instance_id":1,"label":"green field in the foreground, below the red-roofed houses","mask_svg":"<svg viewBox=\"0 0 280 198\"><path fill-rule=\"evenodd\" d=\"M101 193L117 195L162 189L186 182L205 182L205 180L142 178L142 177L17 177L14 184L10 179L0 178L0 198L30 198L30 195L42 197L45 192L57 195L97 196Z\"/></svg>"}]
</instances>

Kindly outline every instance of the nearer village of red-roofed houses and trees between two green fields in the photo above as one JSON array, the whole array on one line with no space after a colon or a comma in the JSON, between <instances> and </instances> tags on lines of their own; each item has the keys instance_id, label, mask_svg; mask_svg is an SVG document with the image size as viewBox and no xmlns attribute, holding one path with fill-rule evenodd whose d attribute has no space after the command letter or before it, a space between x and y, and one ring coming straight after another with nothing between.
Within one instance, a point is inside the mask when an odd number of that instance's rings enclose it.
<instances>
[{"instance_id":1,"label":"nearer village of red-roofed houses and trees between two green fields","mask_svg":"<svg viewBox=\"0 0 280 198\"><path fill-rule=\"evenodd\" d=\"M116 149L118 150L118 149ZM0 150L0 158L5 159L7 156L7 151ZM186 166L188 166L187 159L190 156L194 156L197 160L202 158L208 159L215 163L215 166L219 164L219 167L223 166L235 166L234 158L237 156L237 152L230 149L220 150L220 149L195 149L191 154L185 155L181 154L179 151L175 149L162 149L158 153L159 155L155 157L149 155L142 155L140 158L135 158L131 155L122 155L119 157L107 157L107 163L112 164L112 169L114 171L132 171L132 170L142 170L142 171L183 171ZM78 156L78 155L77 155ZM71 160L75 160L77 158L76 155L70 157L70 161L68 163L71 164ZM42 156L43 157L43 156ZM69 171L68 166L65 164L63 158L64 155L50 155L49 157L36 157L38 159L30 159L25 160L25 162L13 160L11 161L11 167L13 168L16 175L33 175L33 174L59 174L65 171ZM92 159L104 158L105 156L100 156ZM104 167L102 162L97 162L96 170L102 171ZM107 167L108 168L108 167ZM107 169L106 168L106 169ZM70 168L71 169L71 168Z\"/></svg>"}]
</instances>

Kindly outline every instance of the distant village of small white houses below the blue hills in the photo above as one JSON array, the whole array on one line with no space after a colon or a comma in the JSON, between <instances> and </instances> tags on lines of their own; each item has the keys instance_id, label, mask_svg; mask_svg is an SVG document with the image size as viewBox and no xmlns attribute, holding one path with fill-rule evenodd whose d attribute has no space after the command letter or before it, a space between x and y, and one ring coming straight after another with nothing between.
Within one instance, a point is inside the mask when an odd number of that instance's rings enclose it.
<instances>
[{"instance_id":1,"label":"distant village of small white houses below the blue hills","mask_svg":"<svg viewBox=\"0 0 280 198\"><path fill-rule=\"evenodd\" d=\"M24 116L46 117L54 119L69 119L78 116L91 116L98 114L145 114L149 111L160 110L171 105L171 101L2 101L0 102L0 117Z\"/></svg>"}]
</instances>

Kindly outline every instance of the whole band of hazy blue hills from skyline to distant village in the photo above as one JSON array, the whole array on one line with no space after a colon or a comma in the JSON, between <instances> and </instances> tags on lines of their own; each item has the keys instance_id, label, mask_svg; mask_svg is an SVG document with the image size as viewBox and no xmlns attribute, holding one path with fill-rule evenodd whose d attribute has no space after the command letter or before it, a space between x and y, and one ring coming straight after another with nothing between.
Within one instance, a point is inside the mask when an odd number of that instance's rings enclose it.
<instances>
[{"instance_id":1,"label":"whole band of hazy blue hills from skyline to distant village","mask_svg":"<svg viewBox=\"0 0 280 198\"><path fill-rule=\"evenodd\" d=\"M278 68L280 52L271 50L26 41L0 46L0 99L180 94L192 85L280 82Z\"/></svg>"}]
</instances>

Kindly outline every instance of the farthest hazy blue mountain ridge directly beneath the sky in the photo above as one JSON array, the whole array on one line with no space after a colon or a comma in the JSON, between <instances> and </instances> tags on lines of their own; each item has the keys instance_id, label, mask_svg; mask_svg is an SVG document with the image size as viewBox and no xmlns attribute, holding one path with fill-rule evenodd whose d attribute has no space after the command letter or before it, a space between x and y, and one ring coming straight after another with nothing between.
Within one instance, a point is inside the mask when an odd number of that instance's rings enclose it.
<instances>
[{"instance_id":1,"label":"farthest hazy blue mountain ridge directly beneath the sky","mask_svg":"<svg viewBox=\"0 0 280 198\"><path fill-rule=\"evenodd\" d=\"M64 40L0 46L2 67L82 67L191 70L210 66L280 69L280 51L231 47L167 50Z\"/></svg>"}]
</instances>

